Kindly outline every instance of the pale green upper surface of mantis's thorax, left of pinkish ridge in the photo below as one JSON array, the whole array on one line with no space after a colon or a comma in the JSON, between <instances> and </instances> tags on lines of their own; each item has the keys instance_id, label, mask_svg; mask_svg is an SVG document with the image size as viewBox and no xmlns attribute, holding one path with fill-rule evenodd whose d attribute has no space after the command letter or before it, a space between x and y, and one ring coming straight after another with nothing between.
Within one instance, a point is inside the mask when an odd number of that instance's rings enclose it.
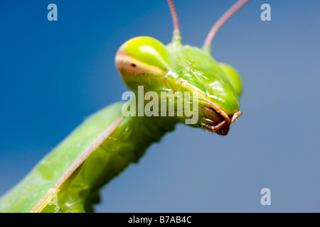
<instances>
[{"instance_id":1,"label":"pale green upper surface of mantis's thorax, left of pinkish ridge","mask_svg":"<svg viewBox=\"0 0 320 227\"><path fill-rule=\"evenodd\" d=\"M120 111L119 111L120 110ZM121 114L120 104L94 114L54 148L0 200L1 212L29 212L81 153Z\"/></svg>"}]
</instances>

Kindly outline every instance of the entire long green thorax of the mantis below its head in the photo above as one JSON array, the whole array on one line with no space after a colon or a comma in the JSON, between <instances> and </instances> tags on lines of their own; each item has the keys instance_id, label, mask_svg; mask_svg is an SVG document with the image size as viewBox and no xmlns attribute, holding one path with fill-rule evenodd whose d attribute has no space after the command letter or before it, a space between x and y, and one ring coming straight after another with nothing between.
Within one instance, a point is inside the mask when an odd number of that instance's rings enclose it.
<instances>
[{"instance_id":1,"label":"entire long green thorax of the mantis below its head","mask_svg":"<svg viewBox=\"0 0 320 227\"><path fill-rule=\"evenodd\" d=\"M31 211L81 153L122 116L122 104L108 106L78 126L16 187L1 197L0 212ZM93 211L92 204L99 201L100 188L127 165L137 162L151 143L174 130L175 123L172 118L123 118L107 140L61 185L56 195L58 205L46 205L42 212Z\"/></svg>"}]
</instances>

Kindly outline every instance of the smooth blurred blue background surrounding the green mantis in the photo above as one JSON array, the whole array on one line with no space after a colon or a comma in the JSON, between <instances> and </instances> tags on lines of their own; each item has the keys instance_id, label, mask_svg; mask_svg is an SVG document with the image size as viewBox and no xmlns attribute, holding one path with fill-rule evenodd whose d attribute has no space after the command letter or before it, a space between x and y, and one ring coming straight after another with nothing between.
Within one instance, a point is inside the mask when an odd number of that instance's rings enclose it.
<instances>
[{"instance_id":1,"label":"smooth blurred blue background surrounding the green mantis","mask_svg":"<svg viewBox=\"0 0 320 227\"><path fill-rule=\"evenodd\" d=\"M235 1L176 0L184 44L201 47ZM47 6L58 6L58 21ZM269 3L272 21L260 20ZM97 212L319 212L320 1L250 1L213 57L242 74L228 136L179 125L102 189ZM127 91L122 43L173 30L166 1L0 1L0 194L85 117ZM260 190L271 190L271 206Z\"/></svg>"}]
</instances>

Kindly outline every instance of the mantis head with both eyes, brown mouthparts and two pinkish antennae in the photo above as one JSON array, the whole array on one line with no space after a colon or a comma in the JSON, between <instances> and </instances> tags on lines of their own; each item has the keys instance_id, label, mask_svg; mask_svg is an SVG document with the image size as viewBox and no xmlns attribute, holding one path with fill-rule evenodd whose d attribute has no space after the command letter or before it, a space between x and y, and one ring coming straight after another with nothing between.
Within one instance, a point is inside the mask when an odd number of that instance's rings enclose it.
<instances>
[{"instance_id":1,"label":"mantis head with both eyes, brown mouthparts and two pinkish antennae","mask_svg":"<svg viewBox=\"0 0 320 227\"><path fill-rule=\"evenodd\" d=\"M239 0L238 5L235 4L225 14L230 18L230 11L232 15L247 1L249 0ZM127 87L135 93L139 87L144 87L144 93L156 92L160 96L161 92L169 91L174 94L171 97L173 100L177 97L182 98L181 100L188 99L192 104L196 102L198 120L190 125L227 135L230 123L241 115L240 75L230 65L215 62L210 56L210 43L217 31L210 31L202 50L181 45L176 11L170 0L169 6L175 27L172 43L165 46L154 38L132 38L117 51L117 69ZM178 108L178 101L174 102ZM186 116L177 118L183 122Z\"/></svg>"}]
</instances>

